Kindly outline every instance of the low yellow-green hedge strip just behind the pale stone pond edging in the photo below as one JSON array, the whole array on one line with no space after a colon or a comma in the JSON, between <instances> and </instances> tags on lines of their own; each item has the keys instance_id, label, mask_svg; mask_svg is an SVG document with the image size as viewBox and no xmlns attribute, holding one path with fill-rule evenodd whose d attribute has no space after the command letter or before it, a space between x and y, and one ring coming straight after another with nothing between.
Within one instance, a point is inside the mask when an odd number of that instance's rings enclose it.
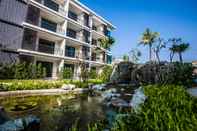
<instances>
[{"instance_id":1,"label":"low yellow-green hedge strip just behind the pale stone pond edging","mask_svg":"<svg viewBox=\"0 0 197 131\"><path fill-rule=\"evenodd\" d=\"M0 81L0 90L16 91L16 90L53 89L53 88L60 88L62 85L63 85L63 81L4 80L4 81Z\"/></svg>"}]
</instances>

